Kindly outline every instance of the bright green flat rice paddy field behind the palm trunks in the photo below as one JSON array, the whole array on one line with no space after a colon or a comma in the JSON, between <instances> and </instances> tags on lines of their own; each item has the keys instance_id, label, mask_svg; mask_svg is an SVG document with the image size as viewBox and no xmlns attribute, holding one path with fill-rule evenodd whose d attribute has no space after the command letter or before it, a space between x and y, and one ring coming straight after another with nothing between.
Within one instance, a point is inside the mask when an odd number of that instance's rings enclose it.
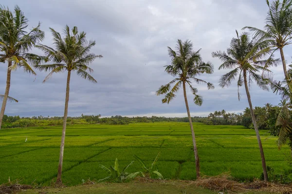
<instances>
[{"instance_id":1,"label":"bright green flat rice paddy field behind the palm trunks","mask_svg":"<svg viewBox=\"0 0 292 194\"><path fill-rule=\"evenodd\" d=\"M207 126L194 123L201 173L216 176L230 172L238 180L258 178L262 172L255 131L241 126ZM0 130L0 184L19 179L23 184L47 185L55 179L62 127ZM260 131L267 165L278 173L289 168L290 149L279 150L276 138ZM27 141L25 142L27 138ZM63 183L82 184L107 173L99 164L120 166L133 155L149 163L161 152L158 169L164 178L195 179L195 163L188 123L137 123L130 125L73 125L66 131ZM138 162L129 171L140 171Z\"/></svg>"}]
</instances>

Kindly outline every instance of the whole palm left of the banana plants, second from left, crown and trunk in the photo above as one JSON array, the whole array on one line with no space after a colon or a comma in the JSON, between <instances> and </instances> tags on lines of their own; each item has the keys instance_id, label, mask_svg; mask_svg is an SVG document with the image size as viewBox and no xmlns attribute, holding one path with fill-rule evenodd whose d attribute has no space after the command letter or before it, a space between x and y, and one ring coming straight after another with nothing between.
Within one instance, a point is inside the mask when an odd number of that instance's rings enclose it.
<instances>
[{"instance_id":1,"label":"whole palm left of the banana plants, second from left, crown and trunk","mask_svg":"<svg viewBox=\"0 0 292 194\"><path fill-rule=\"evenodd\" d=\"M76 74L81 78L96 83L96 80L89 74L89 72L93 72L93 70L88 65L96 58L101 58L102 55L95 55L90 52L90 49L95 45L95 41L88 41L86 39L86 33L78 32L77 27L73 27L71 33L69 27L66 26L64 28L64 38L62 38L60 33L56 32L53 28L50 28L50 30L53 34L55 49L41 44L38 45L37 48L44 51L46 57L53 64L36 65L36 68L40 71L50 71L43 82L47 81L54 73L68 72L62 140L56 180L56 184L61 184L71 72L76 71Z\"/></svg>"}]
</instances>

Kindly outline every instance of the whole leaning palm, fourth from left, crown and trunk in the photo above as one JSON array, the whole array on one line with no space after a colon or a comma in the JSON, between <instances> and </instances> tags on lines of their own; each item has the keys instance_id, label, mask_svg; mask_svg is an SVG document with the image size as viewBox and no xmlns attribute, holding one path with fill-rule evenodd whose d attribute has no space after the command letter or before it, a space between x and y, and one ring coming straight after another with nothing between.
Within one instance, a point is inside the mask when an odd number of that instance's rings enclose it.
<instances>
[{"instance_id":1,"label":"whole leaning palm, fourth from left, crown and trunk","mask_svg":"<svg viewBox=\"0 0 292 194\"><path fill-rule=\"evenodd\" d=\"M225 88L230 86L232 81L234 81L238 76L237 93L239 100L239 87L242 85L245 86L252 122L256 131L256 138L260 150L264 178L265 180L268 180L264 151L256 125L256 118L249 92L249 86L252 80L254 80L261 89L269 90L266 85L266 81L264 81L263 78L257 73L259 71L269 71L267 67L274 65L277 60L274 60L273 56L269 57L267 60L264 59L266 55L271 54L270 48L263 48L262 45L260 45L255 39L250 40L247 33L242 33L240 36L237 31L236 33L237 38L232 39L230 48L227 49L227 53L217 51L213 52L212 56L218 57L223 62L219 69L232 69L220 78L220 87Z\"/></svg>"}]
</instances>

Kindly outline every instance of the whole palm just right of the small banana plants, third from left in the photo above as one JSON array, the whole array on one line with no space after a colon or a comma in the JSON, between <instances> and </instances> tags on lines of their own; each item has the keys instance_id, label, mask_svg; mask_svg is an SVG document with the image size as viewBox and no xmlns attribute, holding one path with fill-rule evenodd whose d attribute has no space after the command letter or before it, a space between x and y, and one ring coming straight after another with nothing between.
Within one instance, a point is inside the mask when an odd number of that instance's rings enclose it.
<instances>
[{"instance_id":1,"label":"whole palm just right of the small banana plants, third from left","mask_svg":"<svg viewBox=\"0 0 292 194\"><path fill-rule=\"evenodd\" d=\"M176 97L175 93L179 91L181 85L183 84L183 96L192 132L197 178L200 177L200 160L196 145L195 132L186 97L185 85L188 84L190 86L191 92L194 95L194 103L199 106L202 105L203 100L202 97L197 94L198 89L194 88L191 85L192 81L195 81L196 83L204 83L207 85L208 89L214 88L212 83L197 78L197 76L203 73L207 74L213 73L213 65L209 62L208 63L202 62L200 50L194 52L193 44L190 40L186 40L184 42L182 42L182 40L178 40L176 50L173 50L170 47L168 47L168 55L171 58L171 65L166 65L165 71L168 74L175 77L175 79L170 81L166 85L162 85L156 92L157 96L165 94L164 99L162 99L162 103L169 103L174 97ZM174 84L173 87L171 87L172 84Z\"/></svg>"}]
</instances>

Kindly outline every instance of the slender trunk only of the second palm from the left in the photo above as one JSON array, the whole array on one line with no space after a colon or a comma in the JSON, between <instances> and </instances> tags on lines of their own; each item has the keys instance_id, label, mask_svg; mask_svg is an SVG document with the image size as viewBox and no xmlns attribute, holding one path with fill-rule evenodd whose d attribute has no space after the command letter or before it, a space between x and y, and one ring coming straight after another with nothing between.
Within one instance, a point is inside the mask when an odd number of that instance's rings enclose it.
<instances>
[{"instance_id":1,"label":"slender trunk only of the second palm from the left","mask_svg":"<svg viewBox=\"0 0 292 194\"><path fill-rule=\"evenodd\" d=\"M62 184L62 167L63 167L66 124L67 124L67 116L68 116L70 77L71 77L71 71L68 71L67 87L66 87L66 98L65 98L65 110L64 110L64 118L63 118L63 130L62 130L62 139L61 139L61 146L60 146L60 158L59 158L58 174L57 174L57 181L56 181L57 185Z\"/></svg>"}]
</instances>

